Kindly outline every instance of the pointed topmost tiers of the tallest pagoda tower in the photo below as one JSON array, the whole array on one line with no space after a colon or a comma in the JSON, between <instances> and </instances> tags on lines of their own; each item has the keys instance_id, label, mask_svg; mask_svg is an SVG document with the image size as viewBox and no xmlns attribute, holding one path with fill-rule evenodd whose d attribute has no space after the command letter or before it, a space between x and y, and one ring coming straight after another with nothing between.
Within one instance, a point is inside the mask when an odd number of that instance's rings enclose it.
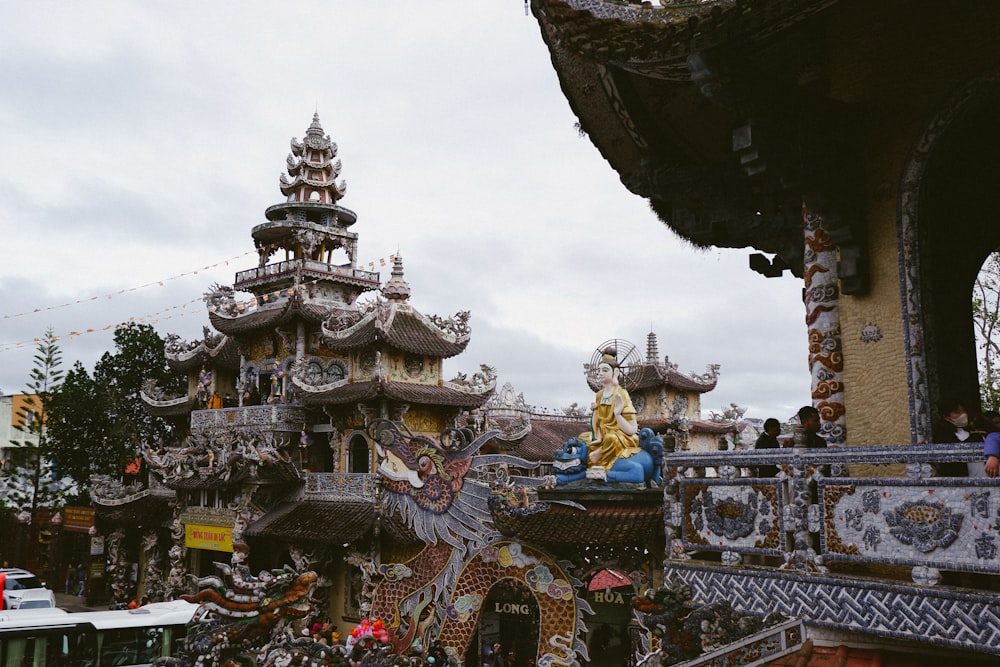
<instances>
[{"instance_id":1,"label":"pointed topmost tiers of the tallest pagoda tower","mask_svg":"<svg viewBox=\"0 0 1000 667\"><path fill-rule=\"evenodd\" d=\"M285 159L288 176L280 177L281 194L289 202L336 204L347 192L347 183L336 182L340 176L337 144L323 131L319 112L313 114L306 136L291 140L292 152Z\"/></svg>"}]
</instances>

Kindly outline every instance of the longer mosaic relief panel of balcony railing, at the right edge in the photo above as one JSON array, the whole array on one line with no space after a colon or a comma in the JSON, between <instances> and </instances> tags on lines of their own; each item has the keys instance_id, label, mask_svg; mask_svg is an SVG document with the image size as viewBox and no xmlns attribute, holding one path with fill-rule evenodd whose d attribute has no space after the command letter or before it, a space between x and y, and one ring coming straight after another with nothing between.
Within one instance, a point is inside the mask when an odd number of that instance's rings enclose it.
<instances>
[{"instance_id":1,"label":"longer mosaic relief panel of balcony railing, at the right edge","mask_svg":"<svg viewBox=\"0 0 1000 667\"><path fill-rule=\"evenodd\" d=\"M820 483L828 560L995 572L1000 488L969 480Z\"/></svg>"}]
</instances>

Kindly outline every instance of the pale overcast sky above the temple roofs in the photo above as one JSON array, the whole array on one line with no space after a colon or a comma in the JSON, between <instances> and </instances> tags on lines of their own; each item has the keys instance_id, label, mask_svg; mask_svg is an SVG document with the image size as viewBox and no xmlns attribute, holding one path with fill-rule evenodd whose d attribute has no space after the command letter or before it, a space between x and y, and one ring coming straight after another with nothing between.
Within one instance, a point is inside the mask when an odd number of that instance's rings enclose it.
<instances>
[{"instance_id":1,"label":"pale overcast sky above the temple roofs","mask_svg":"<svg viewBox=\"0 0 1000 667\"><path fill-rule=\"evenodd\" d=\"M0 389L48 327L65 370L129 318L200 338L317 111L360 261L398 251L415 307L472 311L448 377L487 363L529 404L584 404L594 348L653 331L684 372L721 364L705 416L809 402L801 283L692 248L621 185L520 0L3 3Z\"/></svg>"}]
</instances>

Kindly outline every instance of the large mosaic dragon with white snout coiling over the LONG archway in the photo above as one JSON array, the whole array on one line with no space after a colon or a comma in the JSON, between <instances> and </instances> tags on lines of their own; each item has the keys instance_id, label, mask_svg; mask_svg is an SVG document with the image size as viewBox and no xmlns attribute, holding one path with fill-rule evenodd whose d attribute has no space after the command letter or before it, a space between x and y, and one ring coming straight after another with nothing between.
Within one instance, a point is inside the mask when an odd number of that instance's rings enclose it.
<instances>
[{"instance_id":1,"label":"large mosaic dragon with white snout coiling over the LONG archway","mask_svg":"<svg viewBox=\"0 0 1000 667\"><path fill-rule=\"evenodd\" d=\"M586 632L583 613L592 613L575 594L581 582L567 574L568 564L503 539L489 512L490 487L469 474L485 466L535 464L478 455L496 431L474 437L467 429L446 429L435 442L383 419L369 430L380 458L385 511L397 512L426 545L405 563L377 566L381 581L371 613L385 623L394 650L437 641L449 658L463 659L491 587L507 580L530 590L538 603L540 667L579 667L578 655L589 659L579 639Z\"/></svg>"}]
</instances>

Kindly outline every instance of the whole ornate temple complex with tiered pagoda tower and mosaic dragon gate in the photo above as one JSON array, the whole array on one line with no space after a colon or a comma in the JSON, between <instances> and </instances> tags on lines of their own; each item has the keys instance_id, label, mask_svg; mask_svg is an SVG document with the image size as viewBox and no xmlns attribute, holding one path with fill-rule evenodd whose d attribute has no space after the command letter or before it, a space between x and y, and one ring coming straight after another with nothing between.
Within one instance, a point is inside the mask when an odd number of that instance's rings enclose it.
<instances>
[{"instance_id":1,"label":"whole ornate temple complex with tiered pagoda tower and mosaic dragon gate","mask_svg":"<svg viewBox=\"0 0 1000 667\"><path fill-rule=\"evenodd\" d=\"M485 365L445 380L469 313L418 311L399 255L384 283L359 267L336 157L314 117L292 142L285 201L252 230L258 265L205 295L201 340L168 337L188 391L147 384L143 398L180 438L144 452L148 487L94 490L114 598L191 594L210 575L248 585L287 564L317 573L321 614L381 618L400 650L433 639L471 664L499 641L539 661L620 664L640 641L629 591L658 581L666 544L660 459L643 452L651 467L626 486L561 488L554 456L591 429L587 412L494 392ZM651 333L630 369L658 457L661 437L718 450L733 426L700 407L718 366L681 373Z\"/></svg>"}]
</instances>

